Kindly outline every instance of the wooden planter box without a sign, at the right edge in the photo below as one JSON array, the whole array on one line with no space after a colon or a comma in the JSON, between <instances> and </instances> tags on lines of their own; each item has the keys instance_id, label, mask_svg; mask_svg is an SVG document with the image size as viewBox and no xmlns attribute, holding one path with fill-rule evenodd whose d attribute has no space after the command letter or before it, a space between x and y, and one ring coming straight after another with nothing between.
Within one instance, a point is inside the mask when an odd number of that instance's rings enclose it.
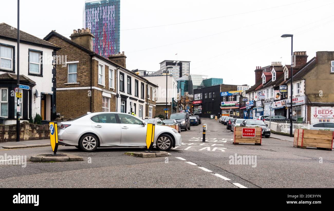
<instances>
[{"instance_id":1,"label":"wooden planter box without a sign, at the right edge","mask_svg":"<svg viewBox=\"0 0 334 211\"><path fill-rule=\"evenodd\" d=\"M334 131L296 129L293 146L303 149L316 147L317 149L332 150L333 137Z\"/></svg>"}]
</instances>

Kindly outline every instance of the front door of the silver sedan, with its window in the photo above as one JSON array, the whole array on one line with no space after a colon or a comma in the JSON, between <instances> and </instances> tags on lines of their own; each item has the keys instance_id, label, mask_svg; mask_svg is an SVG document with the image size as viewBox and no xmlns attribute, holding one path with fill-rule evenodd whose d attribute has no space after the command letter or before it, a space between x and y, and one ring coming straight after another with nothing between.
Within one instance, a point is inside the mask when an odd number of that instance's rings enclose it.
<instances>
[{"instance_id":1,"label":"front door of the silver sedan, with its window","mask_svg":"<svg viewBox=\"0 0 334 211\"><path fill-rule=\"evenodd\" d=\"M146 125L136 117L118 114L122 132L121 144L146 145Z\"/></svg>"}]
</instances>

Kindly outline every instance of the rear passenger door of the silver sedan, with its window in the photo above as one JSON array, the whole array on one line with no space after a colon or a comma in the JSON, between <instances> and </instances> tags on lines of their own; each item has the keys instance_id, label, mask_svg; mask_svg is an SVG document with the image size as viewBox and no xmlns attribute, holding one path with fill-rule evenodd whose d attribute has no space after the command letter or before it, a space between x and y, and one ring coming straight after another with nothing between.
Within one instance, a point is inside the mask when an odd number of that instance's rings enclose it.
<instances>
[{"instance_id":1,"label":"rear passenger door of the silver sedan, with its window","mask_svg":"<svg viewBox=\"0 0 334 211\"><path fill-rule=\"evenodd\" d=\"M91 118L92 128L101 137L102 144L120 144L121 129L115 114L99 114Z\"/></svg>"}]
</instances>

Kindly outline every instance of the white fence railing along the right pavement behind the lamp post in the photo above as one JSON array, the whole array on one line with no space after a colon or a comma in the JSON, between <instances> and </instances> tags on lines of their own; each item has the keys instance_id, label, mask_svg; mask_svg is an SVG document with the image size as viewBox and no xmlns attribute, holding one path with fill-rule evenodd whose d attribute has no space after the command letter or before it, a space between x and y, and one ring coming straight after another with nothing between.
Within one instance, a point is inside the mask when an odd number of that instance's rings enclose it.
<instances>
[{"instance_id":1,"label":"white fence railing along the right pavement behind the lamp post","mask_svg":"<svg viewBox=\"0 0 334 211\"><path fill-rule=\"evenodd\" d=\"M269 122L265 121L265 123L270 127L270 130L281 132L281 133L290 133L290 121L279 121L279 122ZM292 123L292 133L295 133L295 129L299 128L309 128L309 121L298 121Z\"/></svg>"}]
</instances>

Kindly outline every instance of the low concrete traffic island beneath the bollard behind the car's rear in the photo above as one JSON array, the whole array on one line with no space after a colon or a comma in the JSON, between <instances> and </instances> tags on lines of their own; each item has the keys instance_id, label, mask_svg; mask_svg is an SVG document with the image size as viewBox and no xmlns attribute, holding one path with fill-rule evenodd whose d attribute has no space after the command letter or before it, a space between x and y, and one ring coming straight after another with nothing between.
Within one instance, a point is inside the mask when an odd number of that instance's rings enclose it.
<instances>
[{"instance_id":1,"label":"low concrete traffic island beneath the bollard behind the car's rear","mask_svg":"<svg viewBox=\"0 0 334 211\"><path fill-rule=\"evenodd\" d=\"M43 155L32 155L30 157L30 161L33 162L49 162L49 161L56 161L56 162L67 162L67 161L83 161L82 157L69 155L69 154L43 154Z\"/></svg>"}]
</instances>

